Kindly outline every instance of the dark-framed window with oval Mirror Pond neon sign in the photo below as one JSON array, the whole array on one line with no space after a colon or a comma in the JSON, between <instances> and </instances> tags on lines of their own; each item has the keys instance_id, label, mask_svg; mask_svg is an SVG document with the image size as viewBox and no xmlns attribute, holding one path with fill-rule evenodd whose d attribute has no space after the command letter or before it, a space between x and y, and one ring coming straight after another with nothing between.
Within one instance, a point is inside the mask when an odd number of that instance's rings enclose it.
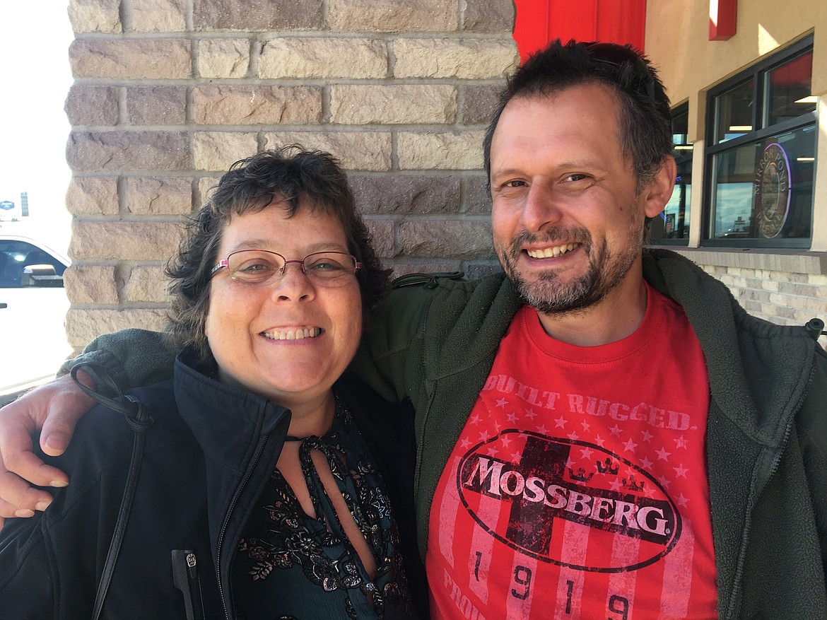
<instances>
[{"instance_id":1,"label":"dark-framed window with oval Mirror Pond neon sign","mask_svg":"<svg viewBox=\"0 0 827 620\"><path fill-rule=\"evenodd\" d=\"M810 247L813 39L710 90L704 245Z\"/></svg>"}]
</instances>

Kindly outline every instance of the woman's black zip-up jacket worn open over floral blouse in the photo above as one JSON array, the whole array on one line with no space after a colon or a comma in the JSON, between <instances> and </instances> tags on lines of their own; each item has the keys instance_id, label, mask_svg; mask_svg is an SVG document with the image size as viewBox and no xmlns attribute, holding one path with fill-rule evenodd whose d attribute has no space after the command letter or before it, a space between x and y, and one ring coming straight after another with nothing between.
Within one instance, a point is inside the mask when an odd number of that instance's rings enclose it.
<instances>
[{"instance_id":1,"label":"woman's black zip-up jacket worn open over floral blouse","mask_svg":"<svg viewBox=\"0 0 827 620\"><path fill-rule=\"evenodd\" d=\"M340 381L336 389L385 480L414 602L424 603L410 417L364 385ZM174 379L131 395L154 423L103 618L234 618L232 556L275 468L289 411L181 360ZM0 532L2 620L92 617L132 441L124 418L98 406L79 422L65 454L51 460L69 472L69 487L55 492L44 513L11 519Z\"/></svg>"}]
</instances>

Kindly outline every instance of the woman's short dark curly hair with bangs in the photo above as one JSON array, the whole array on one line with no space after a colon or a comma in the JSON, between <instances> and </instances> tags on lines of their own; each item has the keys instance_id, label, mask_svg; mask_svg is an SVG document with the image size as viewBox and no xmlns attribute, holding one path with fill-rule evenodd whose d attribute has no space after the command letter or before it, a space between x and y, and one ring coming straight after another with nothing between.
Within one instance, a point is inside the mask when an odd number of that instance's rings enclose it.
<instances>
[{"instance_id":1,"label":"woman's short dark curly hair with bangs","mask_svg":"<svg viewBox=\"0 0 827 620\"><path fill-rule=\"evenodd\" d=\"M356 273L363 320L390 289L390 269L383 269L371 243L370 232L356 211L347 174L329 153L289 145L262 150L237 161L222 175L209 201L187 227L187 235L170 260L169 331L181 346L192 346L201 360L212 355L204 322L209 308L209 283L224 228L234 215L260 212L273 202L286 217L299 209L335 215L347 238L348 251L361 263Z\"/></svg>"}]
</instances>

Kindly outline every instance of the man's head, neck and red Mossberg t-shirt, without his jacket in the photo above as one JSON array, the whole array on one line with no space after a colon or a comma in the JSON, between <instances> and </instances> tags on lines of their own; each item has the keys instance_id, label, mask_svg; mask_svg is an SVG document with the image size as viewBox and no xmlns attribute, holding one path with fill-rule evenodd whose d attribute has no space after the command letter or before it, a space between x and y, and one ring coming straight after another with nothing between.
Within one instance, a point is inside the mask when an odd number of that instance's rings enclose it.
<instances>
[{"instance_id":1,"label":"man's head, neck and red Mossberg t-shirt, without his jacket","mask_svg":"<svg viewBox=\"0 0 827 620\"><path fill-rule=\"evenodd\" d=\"M601 79L622 64L621 88ZM643 279L645 220L676 175L662 87L628 48L552 47L502 102L485 140L494 244L528 303L437 486L432 609L716 618L704 355ZM635 115L655 122L624 133Z\"/></svg>"}]
</instances>

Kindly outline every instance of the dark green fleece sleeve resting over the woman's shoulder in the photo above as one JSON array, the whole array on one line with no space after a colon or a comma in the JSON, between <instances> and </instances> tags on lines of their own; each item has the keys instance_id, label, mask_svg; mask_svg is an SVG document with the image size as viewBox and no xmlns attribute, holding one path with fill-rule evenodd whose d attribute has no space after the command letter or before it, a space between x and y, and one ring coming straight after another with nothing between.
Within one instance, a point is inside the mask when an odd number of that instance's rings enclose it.
<instances>
[{"instance_id":1,"label":"dark green fleece sleeve resting over the woman's shoulder","mask_svg":"<svg viewBox=\"0 0 827 620\"><path fill-rule=\"evenodd\" d=\"M98 364L126 390L170 379L179 351L163 333L125 329L95 338L74 360L64 362L58 374L68 373L79 363Z\"/></svg>"}]
</instances>

